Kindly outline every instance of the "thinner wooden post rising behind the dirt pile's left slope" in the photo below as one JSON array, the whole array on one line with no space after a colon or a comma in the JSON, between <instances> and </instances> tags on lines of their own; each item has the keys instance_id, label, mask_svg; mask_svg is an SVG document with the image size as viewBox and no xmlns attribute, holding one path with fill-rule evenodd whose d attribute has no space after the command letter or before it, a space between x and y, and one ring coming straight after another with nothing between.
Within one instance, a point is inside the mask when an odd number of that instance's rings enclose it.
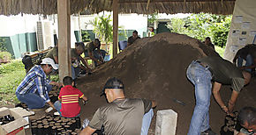
<instances>
[{"instance_id":1,"label":"thinner wooden post rising behind the dirt pile's left slope","mask_svg":"<svg viewBox=\"0 0 256 135\"><path fill-rule=\"evenodd\" d=\"M118 0L113 0L113 58L117 56L118 43Z\"/></svg>"}]
</instances>

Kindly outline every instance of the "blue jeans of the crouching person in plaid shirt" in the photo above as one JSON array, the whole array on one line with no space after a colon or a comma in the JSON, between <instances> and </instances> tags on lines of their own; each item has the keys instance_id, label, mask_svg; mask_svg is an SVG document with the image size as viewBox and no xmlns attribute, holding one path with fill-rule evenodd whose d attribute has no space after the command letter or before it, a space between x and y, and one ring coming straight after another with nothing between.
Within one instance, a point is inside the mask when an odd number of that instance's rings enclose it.
<instances>
[{"instance_id":1,"label":"blue jeans of the crouching person in plaid shirt","mask_svg":"<svg viewBox=\"0 0 256 135\"><path fill-rule=\"evenodd\" d=\"M26 103L28 109L40 109L45 105L45 101L41 98L41 96L35 93L16 93L16 96L21 103Z\"/></svg>"}]
</instances>

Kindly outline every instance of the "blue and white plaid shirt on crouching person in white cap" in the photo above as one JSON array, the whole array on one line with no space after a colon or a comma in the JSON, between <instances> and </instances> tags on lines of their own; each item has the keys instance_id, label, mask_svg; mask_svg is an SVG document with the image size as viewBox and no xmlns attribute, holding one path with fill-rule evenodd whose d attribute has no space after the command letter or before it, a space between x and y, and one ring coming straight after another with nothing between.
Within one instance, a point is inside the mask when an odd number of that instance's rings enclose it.
<instances>
[{"instance_id":1,"label":"blue and white plaid shirt on crouching person in white cap","mask_svg":"<svg viewBox=\"0 0 256 135\"><path fill-rule=\"evenodd\" d=\"M41 96L41 98L48 103L50 100L46 84L49 84L49 81L47 80L41 66L35 65L28 71L22 82L19 83L16 93L19 93L20 95L35 93Z\"/></svg>"}]
</instances>

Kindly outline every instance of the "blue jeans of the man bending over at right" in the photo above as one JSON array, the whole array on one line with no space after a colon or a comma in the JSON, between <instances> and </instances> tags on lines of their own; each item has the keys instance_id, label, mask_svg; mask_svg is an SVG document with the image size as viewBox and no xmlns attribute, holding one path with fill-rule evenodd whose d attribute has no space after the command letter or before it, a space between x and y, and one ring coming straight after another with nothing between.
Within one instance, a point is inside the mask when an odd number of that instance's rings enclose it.
<instances>
[{"instance_id":1,"label":"blue jeans of the man bending over at right","mask_svg":"<svg viewBox=\"0 0 256 135\"><path fill-rule=\"evenodd\" d=\"M212 94L212 74L208 68L192 61L186 71L187 78L195 86L196 106L193 111L188 135L200 135L209 125L209 106Z\"/></svg>"}]
</instances>

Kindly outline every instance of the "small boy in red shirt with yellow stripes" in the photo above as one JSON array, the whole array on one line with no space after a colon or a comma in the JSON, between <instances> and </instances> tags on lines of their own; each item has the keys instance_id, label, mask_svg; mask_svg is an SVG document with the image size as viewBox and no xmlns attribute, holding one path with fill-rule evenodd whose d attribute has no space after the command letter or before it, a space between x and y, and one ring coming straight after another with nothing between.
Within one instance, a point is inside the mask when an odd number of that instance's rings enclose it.
<instances>
[{"instance_id":1,"label":"small boy in red shirt with yellow stripes","mask_svg":"<svg viewBox=\"0 0 256 135\"><path fill-rule=\"evenodd\" d=\"M65 76L63 79L63 86L60 90L58 99L61 101L56 101L54 106L62 117L79 117L80 106L79 98L83 98L87 102L87 96L76 88L73 88L74 82L72 77Z\"/></svg>"}]
</instances>

